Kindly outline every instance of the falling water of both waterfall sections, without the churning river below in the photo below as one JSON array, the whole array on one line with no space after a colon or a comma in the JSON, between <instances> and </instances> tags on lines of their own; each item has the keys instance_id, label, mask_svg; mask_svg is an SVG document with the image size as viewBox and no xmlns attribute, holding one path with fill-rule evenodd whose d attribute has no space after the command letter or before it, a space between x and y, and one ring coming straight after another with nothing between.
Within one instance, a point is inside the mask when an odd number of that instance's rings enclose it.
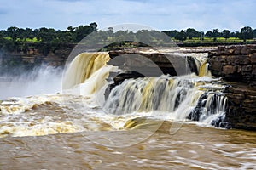
<instances>
[{"instance_id":1,"label":"falling water of both waterfall sections, without the churning river below","mask_svg":"<svg viewBox=\"0 0 256 170\"><path fill-rule=\"evenodd\" d=\"M102 100L102 88L108 86L109 72L117 71L116 67L107 65L109 59L107 53L79 54L67 67L63 88L79 89L78 94L84 96L97 94L97 99ZM224 122L227 99L222 88L216 88L207 69L207 59L196 65L199 76L126 79L111 90L106 101L101 101L102 109L113 115L161 111L175 120L189 119L227 127Z\"/></svg>"}]
</instances>

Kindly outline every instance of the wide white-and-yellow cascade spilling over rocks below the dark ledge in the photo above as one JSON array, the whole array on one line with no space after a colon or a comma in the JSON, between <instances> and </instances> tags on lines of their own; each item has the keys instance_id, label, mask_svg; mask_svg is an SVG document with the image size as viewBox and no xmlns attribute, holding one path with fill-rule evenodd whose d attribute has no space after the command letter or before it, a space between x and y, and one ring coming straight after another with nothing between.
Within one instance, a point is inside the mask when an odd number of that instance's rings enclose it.
<instances>
[{"instance_id":1,"label":"wide white-and-yellow cascade spilling over rocks below the dark ledge","mask_svg":"<svg viewBox=\"0 0 256 170\"><path fill-rule=\"evenodd\" d=\"M164 111L177 120L190 119L225 127L226 98L221 91L201 88L189 76L145 77L125 80L113 88L105 110L114 115Z\"/></svg>"}]
</instances>

